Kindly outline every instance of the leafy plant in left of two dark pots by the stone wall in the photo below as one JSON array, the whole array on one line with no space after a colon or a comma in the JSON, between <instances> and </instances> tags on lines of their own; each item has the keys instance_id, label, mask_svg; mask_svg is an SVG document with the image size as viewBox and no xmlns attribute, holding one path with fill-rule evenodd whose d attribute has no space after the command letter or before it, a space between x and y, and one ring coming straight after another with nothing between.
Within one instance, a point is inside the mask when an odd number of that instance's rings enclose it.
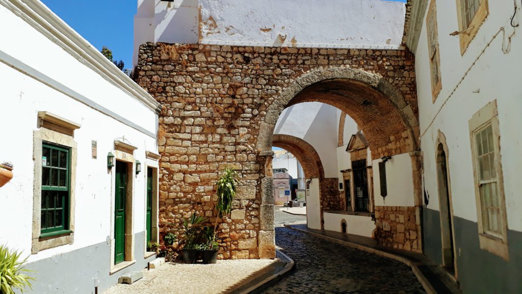
<instances>
[{"instance_id":1,"label":"leafy plant in left of two dark pots by the stone wall","mask_svg":"<svg viewBox=\"0 0 522 294\"><path fill-rule=\"evenodd\" d=\"M185 263L195 263L198 257L198 253L201 250L201 228L200 224L205 219L200 216L196 216L193 213L191 217L183 220L183 227L185 228L185 239L183 245L183 261Z\"/></svg>"}]
</instances>

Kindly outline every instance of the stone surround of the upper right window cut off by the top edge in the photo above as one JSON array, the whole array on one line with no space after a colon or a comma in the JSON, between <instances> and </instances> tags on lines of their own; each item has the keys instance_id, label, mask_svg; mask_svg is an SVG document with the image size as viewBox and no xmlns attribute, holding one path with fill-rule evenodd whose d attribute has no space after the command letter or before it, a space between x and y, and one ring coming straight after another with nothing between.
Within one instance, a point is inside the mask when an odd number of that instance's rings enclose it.
<instances>
[{"instance_id":1,"label":"stone surround of the upper right window cut off by the top edge","mask_svg":"<svg viewBox=\"0 0 522 294\"><path fill-rule=\"evenodd\" d=\"M457 2L457 20L459 27L459 42L460 42L460 55L464 55L468 49L469 44L473 38L477 35L477 32L482 26L483 22L489 15L489 4L488 0L482 0L479 4L477 12L471 19L469 25L464 25L464 7L462 5L463 0L456 0Z\"/></svg>"}]
</instances>

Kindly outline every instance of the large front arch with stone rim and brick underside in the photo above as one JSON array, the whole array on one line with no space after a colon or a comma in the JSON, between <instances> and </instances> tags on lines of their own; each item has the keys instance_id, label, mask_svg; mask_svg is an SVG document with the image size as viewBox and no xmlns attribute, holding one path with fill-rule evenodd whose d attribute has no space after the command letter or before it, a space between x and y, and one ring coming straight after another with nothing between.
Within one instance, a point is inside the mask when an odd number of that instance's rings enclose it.
<instances>
[{"instance_id":1,"label":"large front arch with stone rim and brick underside","mask_svg":"<svg viewBox=\"0 0 522 294\"><path fill-rule=\"evenodd\" d=\"M312 70L284 88L260 123L257 150L271 149L284 108L309 101L333 105L353 118L365 133L374 159L419 150L419 122L412 106L383 76L351 67ZM385 135L375 134L371 130L375 126L385 127L381 129Z\"/></svg>"}]
</instances>

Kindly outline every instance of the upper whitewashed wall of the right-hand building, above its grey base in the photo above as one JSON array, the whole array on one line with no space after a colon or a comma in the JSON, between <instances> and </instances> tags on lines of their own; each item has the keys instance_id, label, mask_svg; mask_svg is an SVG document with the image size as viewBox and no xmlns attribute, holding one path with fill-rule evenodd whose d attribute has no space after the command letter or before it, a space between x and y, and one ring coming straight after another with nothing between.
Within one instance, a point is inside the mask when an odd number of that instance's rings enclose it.
<instances>
[{"instance_id":1,"label":"upper whitewashed wall of the right-hand building, above its grey base","mask_svg":"<svg viewBox=\"0 0 522 294\"><path fill-rule=\"evenodd\" d=\"M518 4L517 14L514 18L515 24L522 22L519 1ZM520 156L522 133L518 127L522 125L522 116L520 116L522 83L520 83L518 74L522 68L522 56L519 54L522 48L522 35L518 28L511 43L507 40L507 36L511 35L514 30L509 25L515 12L513 1L489 2L489 16L464 55L460 54L459 38L449 36L449 32L458 30L455 2L437 1L437 12L442 91L435 103L432 103L425 25L421 31L416 54L424 185L431 196L428 208L439 210L435 142L438 130L440 130L445 134L448 145L448 168L452 195L454 195L454 215L473 222L477 221L468 121L475 112L496 99L499 110L500 152L508 228L522 231L522 214L520 213L522 198L519 197L520 190L522 190L522 181L519 176L519 169L522 166ZM506 36L504 37L500 32L491 41L501 27L505 28ZM490 41L491 44L487 47ZM511 47L511 51L506 54L502 50L503 42L504 49L508 46ZM482 50L484 53L472 66ZM461 82L464 76L465 78Z\"/></svg>"}]
</instances>

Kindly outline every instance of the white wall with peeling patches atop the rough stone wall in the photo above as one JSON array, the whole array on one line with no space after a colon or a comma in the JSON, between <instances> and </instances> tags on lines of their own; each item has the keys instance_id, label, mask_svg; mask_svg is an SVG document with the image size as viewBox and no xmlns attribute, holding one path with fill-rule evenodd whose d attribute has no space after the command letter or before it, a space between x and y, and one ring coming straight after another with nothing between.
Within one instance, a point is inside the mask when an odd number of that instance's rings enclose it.
<instances>
[{"instance_id":1,"label":"white wall with peeling patches atop the rough stone wall","mask_svg":"<svg viewBox=\"0 0 522 294\"><path fill-rule=\"evenodd\" d=\"M396 48L404 16L403 3L381 0L138 0L134 56L147 41Z\"/></svg>"}]
</instances>

